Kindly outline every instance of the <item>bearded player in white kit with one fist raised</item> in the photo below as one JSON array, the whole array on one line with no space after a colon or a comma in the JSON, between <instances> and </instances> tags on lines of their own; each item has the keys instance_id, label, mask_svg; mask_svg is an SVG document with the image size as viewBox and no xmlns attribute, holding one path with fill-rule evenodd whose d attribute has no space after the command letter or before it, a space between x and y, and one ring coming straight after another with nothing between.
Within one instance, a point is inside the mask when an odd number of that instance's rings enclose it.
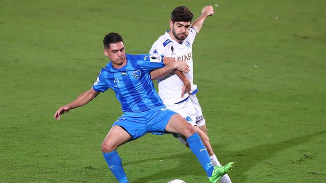
<instances>
[{"instance_id":1,"label":"bearded player in white kit with one fist raised","mask_svg":"<svg viewBox=\"0 0 326 183\"><path fill-rule=\"evenodd\" d=\"M171 29L153 43L149 53L174 57L176 60L185 60L190 71L185 74L178 71L169 73L168 69L163 67L151 71L150 75L152 80L157 79L158 94L167 108L178 112L194 126L209 152L212 164L221 166L207 136L206 121L196 97L198 88L193 83L192 45L205 19L213 14L213 7L211 5L205 6L202 9L202 15L191 24L193 13L185 6L176 7L172 11ZM178 136L178 139L187 145L184 138ZM227 174L220 181L221 183L231 182Z\"/></svg>"}]
</instances>

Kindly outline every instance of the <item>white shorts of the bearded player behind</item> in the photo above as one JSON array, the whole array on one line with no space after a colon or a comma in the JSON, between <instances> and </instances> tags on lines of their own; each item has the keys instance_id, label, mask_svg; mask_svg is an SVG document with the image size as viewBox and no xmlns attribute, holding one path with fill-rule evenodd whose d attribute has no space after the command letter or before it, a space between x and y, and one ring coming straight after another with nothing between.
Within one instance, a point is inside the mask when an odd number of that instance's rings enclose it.
<instances>
[{"instance_id":1,"label":"white shorts of the bearded player behind","mask_svg":"<svg viewBox=\"0 0 326 183\"><path fill-rule=\"evenodd\" d=\"M185 101L176 104L165 104L167 108L178 112L193 126L202 126L206 123L202 107L199 105L196 94L191 94Z\"/></svg>"}]
</instances>

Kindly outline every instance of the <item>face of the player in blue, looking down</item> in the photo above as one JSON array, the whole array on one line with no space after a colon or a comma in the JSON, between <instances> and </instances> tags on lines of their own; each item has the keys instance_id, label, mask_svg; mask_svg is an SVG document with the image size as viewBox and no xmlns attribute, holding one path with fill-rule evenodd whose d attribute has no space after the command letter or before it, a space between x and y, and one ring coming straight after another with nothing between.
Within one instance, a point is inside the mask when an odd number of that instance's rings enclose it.
<instances>
[{"instance_id":1,"label":"face of the player in blue, looking down","mask_svg":"<svg viewBox=\"0 0 326 183\"><path fill-rule=\"evenodd\" d=\"M123 42L110 43L110 48L104 49L104 55L109 57L115 68L120 68L127 63Z\"/></svg>"}]
</instances>

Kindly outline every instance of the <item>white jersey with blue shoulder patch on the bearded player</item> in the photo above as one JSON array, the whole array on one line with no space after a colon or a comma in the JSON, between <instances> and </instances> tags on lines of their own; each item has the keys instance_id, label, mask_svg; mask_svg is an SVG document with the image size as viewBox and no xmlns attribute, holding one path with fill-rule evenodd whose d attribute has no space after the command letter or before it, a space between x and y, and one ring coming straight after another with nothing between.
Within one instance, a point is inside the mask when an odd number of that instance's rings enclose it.
<instances>
[{"instance_id":1,"label":"white jersey with blue shoulder patch on the bearded player","mask_svg":"<svg viewBox=\"0 0 326 183\"><path fill-rule=\"evenodd\" d=\"M189 34L182 43L173 40L169 34L169 30L158 37L153 43L149 54L160 54L164 56L174 57L176 60L185 60L189 66L190 71L185 74L191 83L191 93L196 93L197 85L193 83L193 49L192 45L196 36L196 30L191 27ZM189 96L184 94L181 98L181 91L184 83L174 72L171 72L166 77L158 79L158 95L165 104L174 104L182 101Z\"/></svg>"}]
</instances>

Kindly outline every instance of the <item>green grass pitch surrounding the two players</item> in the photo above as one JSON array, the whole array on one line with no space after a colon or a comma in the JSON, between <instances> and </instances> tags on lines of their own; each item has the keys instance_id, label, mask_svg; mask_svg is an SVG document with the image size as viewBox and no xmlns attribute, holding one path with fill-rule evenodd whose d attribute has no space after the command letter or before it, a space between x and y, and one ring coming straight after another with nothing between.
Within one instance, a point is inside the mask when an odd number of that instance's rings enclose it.
<instances>
[{"instance_id":1,"label":"green grass pitch surrounding the two players","mask_svg":"<svg viewBox=\"0 0 326 183\"><path fill-rule=\"evenodd\" d=\"M54 112L89 89L119 32L147 53L186 5L207 18L193 45L213 148L233 182L326 182L325 0L1 0L0 182L116 182L100 145L121 115L112 91ZM172 135L118 148L130 182L208 182Z\"/></svg>"}]
</instances>

